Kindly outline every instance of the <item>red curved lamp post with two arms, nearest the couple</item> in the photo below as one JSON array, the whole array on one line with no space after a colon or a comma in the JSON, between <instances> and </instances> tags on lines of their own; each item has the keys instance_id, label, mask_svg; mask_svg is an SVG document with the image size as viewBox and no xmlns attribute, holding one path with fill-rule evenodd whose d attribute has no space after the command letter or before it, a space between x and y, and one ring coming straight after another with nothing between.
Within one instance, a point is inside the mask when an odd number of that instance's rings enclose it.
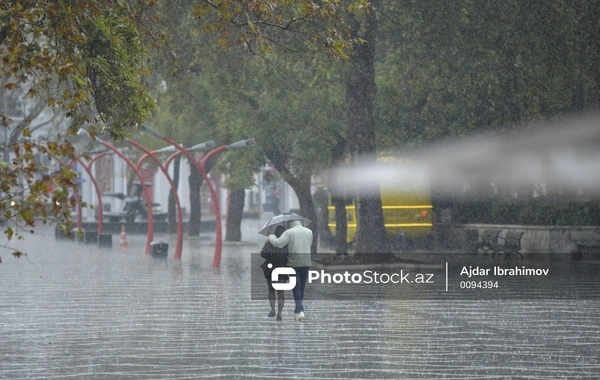
<instances>
[{"instance_id":1,"label":"red curved lamp post with two arms, nearest the couple","mask_svg":"<svg viewBox=\"0 0 600 380\"><path fill-rule=\"evenodd\" d=\"M212 186L212 184L210 183L210 180L206 176L205 165L207 162L207 158L210 158L212 155L214 155L218 152L222 152L229 148L241 148L241 147L249 147L249 146L256 145L254 139L242 140L242 141L238 141L236 143L230 144L230 145L220 146L220 147L212 150L211 152L209 152L205 156L205 158L202 160L202 163L200 163L194 158L194 156L192 156L192 154L188 150L186 150L184 147L182 147L181 145L179 145L177 142L170 139L169 137L161 135L160 133L158 133L154 129L148 127L147 125L142 125L140 128L142 131L148 132L148 133L158 137L159 139L168 142L169 144L173 145L175 148L177 148L181 153L183 153L190 160L190 162L192 162L194 164L194 166L196 167L198 172L202 175L202 177L206 181L206 183L209 187L210 193L211 193L211 199L212 199L212 203L213 203L213 207L214 207L214 211L215 211L215 217L216 217L216 222L215 222L216 241L215 241L215 254L214 254L214 259L213 259L213 267L218 267L221 264L221 246L223 243L221 240L221 212L219 210L219 200L217 197L217 193L216 193L214 187Z\"/></svg>"}]
</instances>

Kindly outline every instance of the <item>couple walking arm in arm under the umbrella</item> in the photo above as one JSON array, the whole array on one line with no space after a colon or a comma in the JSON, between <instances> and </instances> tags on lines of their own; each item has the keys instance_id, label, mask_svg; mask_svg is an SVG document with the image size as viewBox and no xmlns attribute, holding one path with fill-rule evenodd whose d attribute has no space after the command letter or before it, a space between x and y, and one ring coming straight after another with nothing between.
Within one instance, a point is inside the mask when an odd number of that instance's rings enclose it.
<instances>
[{"instance_id":1,"label":"couple walking arm in arm under the umbrella","mask_svg":"<svg viewBox=\"0 0 600 380\"><path fill-rule=\"evenodd\" d=\"M265 259L262 265L267 284L269 286L269 303L271 312L269 317L277 316L281 321L281 311L284 304L284 291L277 290L277 314L275 313L275 289L271 279L273 269L278 267L291 267L296 272L296 286L292 289L296 307L294 314L297 321L304 319L304 287L308 280L308 270L311 265L310 246L312 245L312 231L302 226L299 220L289 222L286 230L283 226L277 226L274 235L269 235L261 251ZM277 282L288 282L287 276L279 275Z\"/></svg>"}]
</instances>

